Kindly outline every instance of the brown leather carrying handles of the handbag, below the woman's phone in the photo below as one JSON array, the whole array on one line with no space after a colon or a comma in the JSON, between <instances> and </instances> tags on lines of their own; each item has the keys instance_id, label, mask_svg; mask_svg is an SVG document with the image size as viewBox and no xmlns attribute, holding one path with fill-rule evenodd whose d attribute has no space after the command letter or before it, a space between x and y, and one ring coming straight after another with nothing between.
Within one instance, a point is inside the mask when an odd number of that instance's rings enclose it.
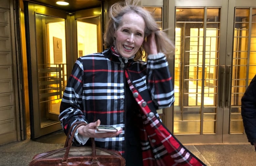
<instances>
[{"instance_id":1,"label":"brown leather carrying handles of the handbag, below the woman's phone","mask_svg":"<svg viewBox=\"0 0 256 166\"><path fill-rule=\"evenodd\" d=\"M75 125L76 125L76 126L75 126ZM66 163L67 163L68 155L69 155L69 150L70 150L70 148L71 148L72 140L73 140L73 138L74 138L74 136L75 136L75 131L78 129L78 127L80 127L80 126L85 126L85 125L87 125L87 123L85 123L85 122L83 122L83 121L77 121L77 122L75 122L75 123L71 126L71 128L70 128L70 130L69 130L69 132L68 132L67 138L66 138L66 142L68 142L68 144L67 144L67 146L66 146L66 143L65 143L65 147L67 147L67 149L66 149L66 152L65 152L65 154L64 154L64 157L63 157L63 159L62 159L62 165L66 165ZM73 130L74 132L72 132L73 126L75 126L75 128L74 128L74 130ZM69 135L70 135L71 132L72 132L72 134L71 134L71 136L69 137ZM93 165L97 165L96 145L95 145L95 140L94 140L94 138L91 138L91 141L92 141L92 158L93 158L92 162L93 162Z\"/></svg>"}]
</instances>

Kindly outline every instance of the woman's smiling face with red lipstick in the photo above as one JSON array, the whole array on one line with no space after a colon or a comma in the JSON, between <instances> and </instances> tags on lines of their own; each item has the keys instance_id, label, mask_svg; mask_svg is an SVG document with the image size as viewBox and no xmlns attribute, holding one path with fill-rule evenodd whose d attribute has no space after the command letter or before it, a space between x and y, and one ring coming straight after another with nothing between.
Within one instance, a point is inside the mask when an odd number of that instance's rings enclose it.
<instances>
[{"instance_id":1,"label":"woman's smiling face with red lipstick","mask_svg":"<svg viewBox=\"0 0 256 166\"><path fill-rule=\"evenodd\" d=\"M136 13L123 15L120 26L115 31L116 51L125 58L135 55L144 40L144 19Z\"/></svg>"}]
</instances>

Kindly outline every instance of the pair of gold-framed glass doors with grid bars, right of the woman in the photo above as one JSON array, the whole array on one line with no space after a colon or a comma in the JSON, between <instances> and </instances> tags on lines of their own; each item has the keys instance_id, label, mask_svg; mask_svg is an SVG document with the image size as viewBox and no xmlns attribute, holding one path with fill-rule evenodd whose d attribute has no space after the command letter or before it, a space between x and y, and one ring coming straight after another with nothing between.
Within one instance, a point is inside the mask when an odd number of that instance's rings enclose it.
<instances>
[{"instance_id":1,"label":"pair of gold-framed glass doors with grid bars, right of the woman","mask_svg":"<svg viewBox=\"0 0 256 166\"><path fill-rule=\"evenodd\" d=\"M250 20L234 16L241 10L228 0L175 1L170 9L175 10L169 25L175 22L176 101L168 128L182 143L247 142L240 101L253 73L247 59L252 50L244 49L252 47L245 44ZM241 20L248 23L247 33L237 28Z\"/></svg>"}]
</instances>

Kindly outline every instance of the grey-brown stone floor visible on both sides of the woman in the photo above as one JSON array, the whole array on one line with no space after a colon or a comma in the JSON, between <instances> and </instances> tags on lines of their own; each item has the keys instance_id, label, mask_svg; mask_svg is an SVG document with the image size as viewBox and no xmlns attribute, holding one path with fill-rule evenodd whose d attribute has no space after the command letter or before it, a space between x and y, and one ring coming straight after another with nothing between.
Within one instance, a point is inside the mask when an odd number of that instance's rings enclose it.
<instances>
[{"instance_id":1,"label":"grey-brown stone floor visible on both sides of the woman","mask_svg":"<svg viewBox=\"0 0 256 166\"><path fill-rule=\"evenodd\" d=\"M26 166L38 153L62 148L66 136L60 130L50 135L26 139L0 146L1 166ZM256 166L256 153L252 145L215 144L184 146L207 166Z\"/></svg>"}]
</instances>

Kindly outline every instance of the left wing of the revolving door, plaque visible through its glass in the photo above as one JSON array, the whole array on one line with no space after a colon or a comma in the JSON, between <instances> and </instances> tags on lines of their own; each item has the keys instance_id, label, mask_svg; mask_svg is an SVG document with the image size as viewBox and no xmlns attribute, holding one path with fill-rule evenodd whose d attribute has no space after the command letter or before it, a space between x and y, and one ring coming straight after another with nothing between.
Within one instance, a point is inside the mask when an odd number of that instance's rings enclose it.
<instances>
[{"instance_id":1,"label":"left wing of the revolving door, plaque visible through its glass","mask_svg":"<svg viewBox=\"0 0 256 166\"><path fill-rule=\"evenodd\" d=\"M65 11L24 1L31 138L60 130L67 80Z\"/></svg>"}]
</instances>

